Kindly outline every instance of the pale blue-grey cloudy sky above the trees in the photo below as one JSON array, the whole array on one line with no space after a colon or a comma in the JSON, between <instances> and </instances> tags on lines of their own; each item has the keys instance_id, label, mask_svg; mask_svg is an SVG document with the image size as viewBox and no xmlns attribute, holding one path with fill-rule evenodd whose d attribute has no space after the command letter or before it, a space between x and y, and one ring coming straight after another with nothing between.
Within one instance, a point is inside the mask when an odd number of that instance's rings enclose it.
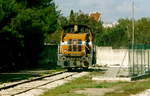
<instances>
[{"instance_id":1,"label":"pale blue-grey cloudy sky above the trees","mask_svg":"<svg viewBox=\"0 0 150 96\"><path fill-rule=\"evenodd\" d=\"M90 14L99 12L102 21L106 23L116 22L119 18L131 18L131 5L133 0L55 0L63 16L69 16L73 9L75 12L81 10ZM135 19L150 17L150 0L134 0Z\"/></svg>"}]
</instances>

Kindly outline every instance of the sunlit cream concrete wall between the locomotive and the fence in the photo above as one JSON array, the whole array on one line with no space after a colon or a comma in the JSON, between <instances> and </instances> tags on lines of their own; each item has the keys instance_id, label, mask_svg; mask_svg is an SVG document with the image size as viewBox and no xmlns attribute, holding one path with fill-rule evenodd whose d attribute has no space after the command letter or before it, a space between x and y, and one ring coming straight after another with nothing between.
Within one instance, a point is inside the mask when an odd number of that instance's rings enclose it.
<instances>
[{"instance_id":1,"label":"sunlit cream concrete wall between the locomotive and the fence","mask_svg":"<svg viewBox=\"0 0 150 96\"><path fill-rule=\"evenodd\" d=\"M96 47L96 64L128 66L128 49L112 49L112 47Z\"/></svg>"}]
</instances>

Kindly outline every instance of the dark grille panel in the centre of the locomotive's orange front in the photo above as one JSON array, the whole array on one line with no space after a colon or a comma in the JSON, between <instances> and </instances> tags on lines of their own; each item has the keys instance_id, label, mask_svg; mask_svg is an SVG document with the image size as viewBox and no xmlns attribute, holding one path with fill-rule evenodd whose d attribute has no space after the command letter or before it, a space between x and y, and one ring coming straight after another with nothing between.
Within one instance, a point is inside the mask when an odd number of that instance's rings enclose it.
<instances>
[{"instance_id":1,"label":"dark grille panel in the centre of the locomotive's orange front","mask_svg":"<svg viewBox=\"0 0 150 96\"><path fill-rule=\"evenodd\" d=\"M68 40L68 51L78 52L81 51L82 41L80 39Z\"/></svg>"}]
</instances>

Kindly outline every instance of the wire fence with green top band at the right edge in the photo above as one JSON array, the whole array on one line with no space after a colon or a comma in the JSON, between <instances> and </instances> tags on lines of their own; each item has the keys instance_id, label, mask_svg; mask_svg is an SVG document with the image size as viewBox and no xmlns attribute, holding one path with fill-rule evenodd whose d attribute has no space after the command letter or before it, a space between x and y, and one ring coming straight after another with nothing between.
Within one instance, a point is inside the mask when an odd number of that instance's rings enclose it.
<instances>
[{"instance_id":1,"label":"wire fence with green top band at the right edge","mask_svg":"<svg viewBox=\"0 0 150 96\"><path fill-rule=\"evenodd\" d=\"M150 45L129 46L129 75L131 77L150 73Z\"/></svg>"}]
</instances>

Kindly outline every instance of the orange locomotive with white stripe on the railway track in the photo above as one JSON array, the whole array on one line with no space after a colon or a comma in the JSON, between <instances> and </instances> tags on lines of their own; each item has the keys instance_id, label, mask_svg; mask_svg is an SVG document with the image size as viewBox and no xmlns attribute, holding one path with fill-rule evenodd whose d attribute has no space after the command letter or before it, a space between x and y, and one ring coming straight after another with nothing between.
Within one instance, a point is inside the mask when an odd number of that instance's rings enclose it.
<instances>
[{"instance_id":1,"label":"orange locomotive with white stripe on the railway track","mask_svg":"<svg viewBox=\"0 0 150 96\"><path fill-rule=\"evenodd\" d=\"M62 30L58 47L58 65L67 68L88 68L93 61L93 33L86 25L68 25Z\"/></svg>"}]
</instances>

